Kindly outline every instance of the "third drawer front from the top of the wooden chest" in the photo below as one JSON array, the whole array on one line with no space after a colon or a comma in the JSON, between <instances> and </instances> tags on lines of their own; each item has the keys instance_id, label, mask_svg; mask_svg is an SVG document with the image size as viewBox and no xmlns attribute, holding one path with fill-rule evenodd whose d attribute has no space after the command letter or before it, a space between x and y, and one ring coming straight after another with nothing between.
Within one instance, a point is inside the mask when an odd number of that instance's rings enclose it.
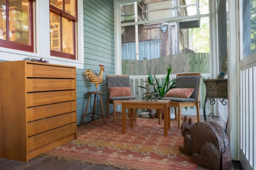
<instances>
[{"instance_id":1,"label":"third drawer front from the top of the wooden chest","mask_svg":"<svg viewBox=\"0 0 256 170\"><path fill-rule=\"evenodd\" d=\"M75 100L76 90L27 93L27 107Z\"/></svg>"}]
</instances>

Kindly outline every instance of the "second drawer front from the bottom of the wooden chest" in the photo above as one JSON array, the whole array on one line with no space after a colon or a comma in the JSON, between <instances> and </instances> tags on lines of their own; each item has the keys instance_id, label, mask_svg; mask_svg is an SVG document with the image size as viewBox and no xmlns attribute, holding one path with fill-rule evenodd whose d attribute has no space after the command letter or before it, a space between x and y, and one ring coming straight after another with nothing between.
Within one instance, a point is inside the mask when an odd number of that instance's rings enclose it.
<instances>
[{"instance_id":1,"label":"second drawer front from the bottom of the wooden chest","mask_svg":"<svg viewBox=\"0 0 256 170\"><path fill-rule=\"evenodd\" d=\"M43 133L48 130L55 129L67 124L76 122L76 112L70 112L63 115L57 115L50 118L44 118L38 121L31 121L28 123L28 136ZM64 132L63 132L64 133Z\"/></svg>"}]
</instances>

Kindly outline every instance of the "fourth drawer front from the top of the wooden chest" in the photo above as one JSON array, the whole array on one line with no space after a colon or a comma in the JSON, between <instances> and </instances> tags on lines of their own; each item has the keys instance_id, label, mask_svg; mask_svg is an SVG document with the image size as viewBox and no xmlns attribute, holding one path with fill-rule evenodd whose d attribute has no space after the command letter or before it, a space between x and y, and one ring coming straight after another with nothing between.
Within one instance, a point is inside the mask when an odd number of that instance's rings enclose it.
<instances>
[{"instance_id":1,"label":"fourth drawer front from the top of the wooden chest","mask_svg":"<svg viewBox=\"0 0 256 170\"><path fill-rule=\"evenodd\" d=\"M63 113L76 111L76 102L69 101L57 104L47 104L27 109L27 121L35 121L41 118L48 118Z\"/></svg>"}]
</instances>

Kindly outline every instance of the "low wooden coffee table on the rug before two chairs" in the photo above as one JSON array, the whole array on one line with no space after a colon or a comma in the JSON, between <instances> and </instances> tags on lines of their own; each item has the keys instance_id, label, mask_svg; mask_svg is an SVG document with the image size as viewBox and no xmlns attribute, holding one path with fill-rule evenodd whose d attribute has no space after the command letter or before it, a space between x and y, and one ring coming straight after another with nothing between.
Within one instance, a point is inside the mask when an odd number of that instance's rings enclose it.
<instances>
[{"instance_id":1,"label":"low wooden coffee table on the rug before two chairs","mask_svg":"<svg viewBox=\"0 0 256 170\"><path fill-rule=\"evenodd\" d=\"M163 136L168 136L170 130L170 100L143 101L140 99L131 99L122 101L122 133L126 133L126 114L125 109L130 112L130 127L133 128L134 109L163 109ZM160 113L160 117L161 117ZM135 115L136 116L136 115Z\"/></svg>"}]
</instances>

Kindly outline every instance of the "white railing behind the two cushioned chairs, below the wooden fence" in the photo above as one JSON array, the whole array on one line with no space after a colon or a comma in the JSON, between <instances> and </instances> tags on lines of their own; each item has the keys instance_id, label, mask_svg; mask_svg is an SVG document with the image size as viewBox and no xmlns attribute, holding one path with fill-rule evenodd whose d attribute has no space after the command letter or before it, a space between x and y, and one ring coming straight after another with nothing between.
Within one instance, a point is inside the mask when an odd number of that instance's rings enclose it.
<instances>
[{"instance_id":1,"label":"white railing behind the two cushioned chairs, below the wooden fence","mask_svg":"<svg viewBox=\"0 0 256 170\"><path fill-rule=\"evenodd\" d=\"M202 74L202 76L205 79L210 78L209 74ZM165 77L166 77L166 75L156 75L158 82L163 82ZM143 93L145 92L145 89L140 88L138 86L145 86L146 83L143 81L146 81L147 78L148 78L148 75L130 75L131 92L134 96L136 96L136 98L143 98ZM175 79L175 78L176 78L176 74L170 75L170 80ZM200 94L200 101L201 101L200 115L201 116L203 116L204 100L205 100L205 86L204 86L203 79L201 79L201 94ZM218 101L216 101L216 102L218 102ZM221 104L218 104L218 105L221 105ZM210 105L209 102L207 102L206 113L207 113L207 115L209 115L210 112L213 112L215 114L215 116L218 116L218 114L222 113L222 109L223 109L224 110L224 116L223 116L224 118L223 119L224 119L224 121L227 121L227 115L225 115L225 114L227 114L227 111L225 111L227 108L227 105L222 106L222 107L219 107L219 109L221 109L221 111L218 110L218 112L216 112L216 111L214 112L213 111L214 106ZM196 109L195 109L195 107L183 108L182 114L183 115L196 115ZM207 120L208 120L208 118L207 118Z\"/></svg>"}]
</instances>

